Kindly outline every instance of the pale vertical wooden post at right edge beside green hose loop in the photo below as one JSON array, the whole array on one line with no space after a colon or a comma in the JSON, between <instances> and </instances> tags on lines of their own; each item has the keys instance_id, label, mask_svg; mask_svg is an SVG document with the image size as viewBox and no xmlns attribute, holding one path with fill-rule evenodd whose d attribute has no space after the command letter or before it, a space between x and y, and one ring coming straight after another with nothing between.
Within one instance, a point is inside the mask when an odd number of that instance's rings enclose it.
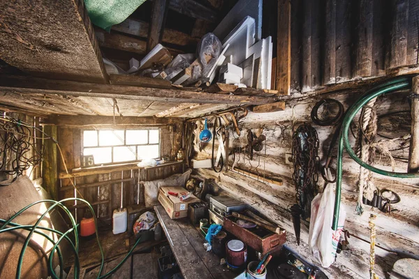
<instances>
[{"instance_id":1,"label":"pale vertical wooden post at right edge beside green hose loop","mask_svg":"<svg viewBox=\"0 0 419 279\"><path fill-rule=\"evenodd\" d=\"M413 77L412 92L416 98L412 98L412 128L409 148L408 172L419 171L419 76Z\"/></svg>"}]
</instances>

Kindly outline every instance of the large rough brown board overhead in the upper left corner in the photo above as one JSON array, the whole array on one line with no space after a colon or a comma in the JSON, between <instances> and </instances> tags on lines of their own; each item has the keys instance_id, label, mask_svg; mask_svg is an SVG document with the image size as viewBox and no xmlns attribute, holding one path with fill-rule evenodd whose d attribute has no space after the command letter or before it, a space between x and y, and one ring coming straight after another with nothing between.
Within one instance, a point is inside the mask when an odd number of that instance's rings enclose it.
<instances>
[{"instance_id":1,"label":"large rough brown board overhead in the upper left corner","mask_svg":"<svg viewBox=\"0 0 419 279\"><path fill-rule=\"evenodd\" d=\"M107 80L84 1L1 1L0 41L0 58L31 75Z\"/></svg>"}]
</instances>

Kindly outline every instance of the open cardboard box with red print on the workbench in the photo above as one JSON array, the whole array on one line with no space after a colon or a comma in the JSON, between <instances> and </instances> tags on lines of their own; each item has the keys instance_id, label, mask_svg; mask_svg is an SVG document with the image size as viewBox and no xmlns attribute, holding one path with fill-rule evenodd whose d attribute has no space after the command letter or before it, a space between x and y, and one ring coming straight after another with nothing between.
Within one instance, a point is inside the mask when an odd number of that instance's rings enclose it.
<instances>
[{"instance_id":1,"label":"open cardboard box with red print on the workbench","mask_svg":"<svg viewBox=\"0 0 419 279\"><path fill-rule=\"evenodd\" d=\"M188 216L188 205L193 202L200 202L198 197L191 195L189 199L180 201L179 197L169 195L169 192L173 193L188 193L183 187L161 187L159 189L159 202L164 207L164 210L168 213L170 219L179 219Z\"/></svg>"}]
</instances>

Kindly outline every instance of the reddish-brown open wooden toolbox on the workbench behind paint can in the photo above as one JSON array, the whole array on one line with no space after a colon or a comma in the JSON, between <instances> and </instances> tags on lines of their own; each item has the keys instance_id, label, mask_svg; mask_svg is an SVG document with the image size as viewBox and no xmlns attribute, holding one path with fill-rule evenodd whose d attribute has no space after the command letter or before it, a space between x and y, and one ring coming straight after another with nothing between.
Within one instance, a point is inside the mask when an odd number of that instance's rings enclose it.
<instances>
[{"instance_id":1,"label":"reddish-brown open wooden toolbox on the workbench behind paint can","mask_svg":"<svg viewBox=\"0 0 419 279\"><path fill-rule=\"evenodd\" d=\"M280 248L286 242L286 232L275 234L263 227L255 227L253 229L244 229L235 223L237 218L233 216L224 217L223 229L234 234L251 248L265 255L276 248Z\"/></svg>"}]
</instances>

